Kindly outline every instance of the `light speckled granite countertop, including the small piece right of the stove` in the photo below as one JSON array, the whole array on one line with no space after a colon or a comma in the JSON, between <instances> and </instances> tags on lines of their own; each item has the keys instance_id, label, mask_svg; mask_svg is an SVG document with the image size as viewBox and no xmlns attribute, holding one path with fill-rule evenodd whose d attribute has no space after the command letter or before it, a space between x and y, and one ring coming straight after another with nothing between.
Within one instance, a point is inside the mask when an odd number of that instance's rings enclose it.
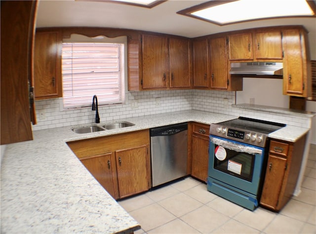
<instances>
[{"instance_id":1,"label":"light speckled granite countertop, including the small piece right of the stove","mask_svg":"<svg viewBox=\"0 0 316 234\"><path fill-rule=\"evenodd\" d=\"M92 177L66 142L189 121L211 124L235 118L190 110L121 119L135 125L91 134L74 133L72 129L79 126L34 131L33 141L9 144L4 152L1 233L134 232L140 225ZM108 123L98 125L104 124ZM271 137L295 141L308 131L286 126Z\"/></svg>"}]
</instances>

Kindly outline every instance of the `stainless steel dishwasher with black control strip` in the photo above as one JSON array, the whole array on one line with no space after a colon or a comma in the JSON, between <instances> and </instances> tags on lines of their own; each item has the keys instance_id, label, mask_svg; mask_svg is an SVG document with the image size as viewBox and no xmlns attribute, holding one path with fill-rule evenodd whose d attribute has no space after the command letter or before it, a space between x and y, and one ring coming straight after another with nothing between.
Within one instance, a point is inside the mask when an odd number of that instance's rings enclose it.
<instances>
[{"instance_id":1,"label":"stainless steel dishwasher with black control strip","mask_svg":"<svg viewBox=\"0 0 316 234\"><path fill-rule=\"evenodd\" d=\"M153 187L187 175L188 124L150 129Z\"/></svg>"}]
</instances>

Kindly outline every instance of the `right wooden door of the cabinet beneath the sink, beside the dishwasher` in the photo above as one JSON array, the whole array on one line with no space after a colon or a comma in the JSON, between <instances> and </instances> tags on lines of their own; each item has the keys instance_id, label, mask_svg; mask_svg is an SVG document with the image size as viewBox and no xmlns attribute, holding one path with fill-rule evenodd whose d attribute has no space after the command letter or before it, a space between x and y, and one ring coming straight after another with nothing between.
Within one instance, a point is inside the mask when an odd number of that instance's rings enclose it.
<instances>
[{"instance_id":1,"label":"right wooden door of the cabinet beneath the sink, beside the dishwasher","mask_svg":"<svg viewBox=\"0 0 316 234\"><path fill-rule=\"evenodd\" d=\"M147 146L118 150L116 153L119 197L148 190Z\"/></svg>"}]
</instances>

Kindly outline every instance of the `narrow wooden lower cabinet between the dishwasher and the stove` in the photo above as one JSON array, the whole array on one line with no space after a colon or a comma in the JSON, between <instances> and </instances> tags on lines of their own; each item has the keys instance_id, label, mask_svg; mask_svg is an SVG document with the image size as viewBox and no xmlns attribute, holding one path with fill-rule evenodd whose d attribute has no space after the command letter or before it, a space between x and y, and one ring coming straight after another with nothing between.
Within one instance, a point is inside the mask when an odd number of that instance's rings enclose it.
<instances>
[{"instance_id":1,"label":"narrow wooden lower cabinet between the dishwasher and the stove","mask_svg":"<svg viewBox=\"0 0 316 234\"><path fill-rule=\"evenodd\" d=\"M192 171L191 175L207 181L209 125L192 123Z\"/></svg>"}]
</instances>

